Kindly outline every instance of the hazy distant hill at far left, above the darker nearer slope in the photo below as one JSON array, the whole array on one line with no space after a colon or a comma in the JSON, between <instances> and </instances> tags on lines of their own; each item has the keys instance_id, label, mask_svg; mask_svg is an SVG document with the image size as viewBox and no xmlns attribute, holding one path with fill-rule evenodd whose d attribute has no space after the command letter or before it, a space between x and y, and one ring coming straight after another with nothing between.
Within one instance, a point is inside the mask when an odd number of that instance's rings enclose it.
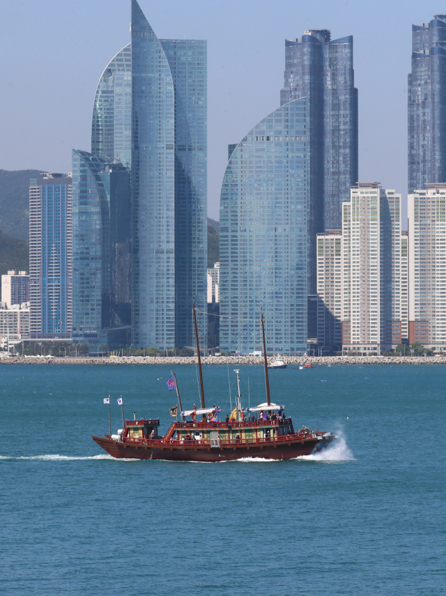
<instances>
[{"instance_id":1,"label":"hazy distant hill at far left, above the darker nearer slope","mask_svg":"<svg viewBox=\"0 0 446 596\"><path fill-rule=\"evenodd\" d=\"M29 179L38 178L41 169L0 169L0 229L4 234L28 240Z\"/></svg>"}]
</instances>

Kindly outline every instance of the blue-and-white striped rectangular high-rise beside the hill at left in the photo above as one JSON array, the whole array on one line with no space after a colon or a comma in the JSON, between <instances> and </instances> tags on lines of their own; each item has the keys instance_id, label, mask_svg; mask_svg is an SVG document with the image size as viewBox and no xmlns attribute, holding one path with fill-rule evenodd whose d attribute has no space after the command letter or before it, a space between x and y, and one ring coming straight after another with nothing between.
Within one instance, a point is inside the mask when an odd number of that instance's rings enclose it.
<instances>
[{"instance_id":1,"label":"blue-and-white striped rectangular high-rise beside the hill at left","mask_svg":"<svg viewBox=\"0 0 446 596\"><path fill-rule=\"evenodd\" d=\"M72 178L44 174L29 188L29 300L33 339L72 331Z\"/></svg>"}]
</instances>

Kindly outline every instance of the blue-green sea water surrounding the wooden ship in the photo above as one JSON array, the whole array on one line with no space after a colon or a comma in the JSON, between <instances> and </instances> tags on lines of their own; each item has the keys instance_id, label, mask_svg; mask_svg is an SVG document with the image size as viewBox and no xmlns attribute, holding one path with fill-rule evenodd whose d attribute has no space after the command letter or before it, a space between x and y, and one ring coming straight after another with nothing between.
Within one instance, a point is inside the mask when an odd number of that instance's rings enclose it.
<instances>
[{"instance_id":1,"label":"blue-green sea water surrounding the wooden ship","mask_svg":"<svg viewBox=\"0 0 446 596\"><path fill-rule=\"evenodd\" d=\"M183 406L197 370L176 367ZM292 461L123 461L91 440L125 414L171 422L156 366L0 367L3 596L440 595L445 575L442 365L272 371L295 427L334 430ZM243 402L265 401L240 367ZM157 377L162 377L158 381ZM223 413L233 368L205 367Z\"/></svg>"}]
</instances>

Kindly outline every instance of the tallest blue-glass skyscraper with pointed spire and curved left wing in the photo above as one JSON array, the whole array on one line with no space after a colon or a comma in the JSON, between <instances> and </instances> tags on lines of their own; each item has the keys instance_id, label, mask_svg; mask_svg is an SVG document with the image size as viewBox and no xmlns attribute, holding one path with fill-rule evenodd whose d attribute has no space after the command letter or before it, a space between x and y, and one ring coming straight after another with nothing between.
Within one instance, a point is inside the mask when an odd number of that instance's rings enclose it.
<instances>
[{"instance_id":1,"label":"tallest blue-glass skyscraper with pointed spire and curved left wing","mask_svg":"<svg viewBox=\"0 0 446 596\"><path fill-rule=\"evenodd\" d=\"M131 36L100 78L91 151L132 171L132 344L191 346L194 298L206 338L206 41L158 40L136 0Z\"/></svg>"}]
</instances>

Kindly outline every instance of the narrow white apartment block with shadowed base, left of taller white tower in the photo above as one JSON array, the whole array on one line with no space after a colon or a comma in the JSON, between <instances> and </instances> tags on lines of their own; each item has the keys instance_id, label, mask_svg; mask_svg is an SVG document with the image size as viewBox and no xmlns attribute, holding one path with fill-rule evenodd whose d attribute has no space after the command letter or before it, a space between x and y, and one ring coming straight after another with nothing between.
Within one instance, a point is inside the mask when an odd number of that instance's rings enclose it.
<instances>
[{"instance_id":1,"label":"narrow white apartment block with shadowed base, left of taller white tower","mask_svg":"<svg viewBox=\"0 0 446 596\"><path fill-rule=\"evenodd\" d=\"M327 351L342 346L342 231L317 235L317 343Z\"/></svg>"}]
</instances>

